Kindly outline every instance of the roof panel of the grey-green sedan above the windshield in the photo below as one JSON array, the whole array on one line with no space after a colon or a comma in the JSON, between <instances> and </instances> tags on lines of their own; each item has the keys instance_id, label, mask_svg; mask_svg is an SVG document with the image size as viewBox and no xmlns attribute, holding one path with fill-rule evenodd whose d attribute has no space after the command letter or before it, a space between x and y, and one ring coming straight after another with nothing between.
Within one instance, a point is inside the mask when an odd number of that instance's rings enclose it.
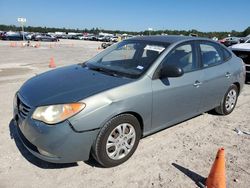
<instances>
[{"instance_id":1,"label":"roof panel of the grey-green sedan above the windshield","mask_svg":"<svg viewBox=\"0 0 250 188\"><path fill-rule=\"evenodd\" d=\"M180 35L152 35L152 36L132 37L127 40L142 40L142 41L152 41L152 42L164 42L171 44L185 40L209 40L209 39L201 37L192 37L192 36L180 36Z\"/></svg>"}]
</instances>

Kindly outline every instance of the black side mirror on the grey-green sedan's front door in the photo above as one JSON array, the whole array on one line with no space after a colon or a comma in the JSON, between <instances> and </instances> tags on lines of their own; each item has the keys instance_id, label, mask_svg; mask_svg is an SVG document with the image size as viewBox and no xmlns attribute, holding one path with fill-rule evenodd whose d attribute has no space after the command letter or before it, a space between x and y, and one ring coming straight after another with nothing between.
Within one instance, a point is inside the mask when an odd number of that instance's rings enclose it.
<instances>
[{"instance_id":1,"label":"black side mirror on the grey-green sedan's front door","mask_svg":"<svg viewBox=\"0 0 250 188\"><path fill-rule=\"evenodd\" d=\"M183 69L176 65L165 65L161 68L160 78L180 77L184 74Z\"/></svg>"}]
</instances>

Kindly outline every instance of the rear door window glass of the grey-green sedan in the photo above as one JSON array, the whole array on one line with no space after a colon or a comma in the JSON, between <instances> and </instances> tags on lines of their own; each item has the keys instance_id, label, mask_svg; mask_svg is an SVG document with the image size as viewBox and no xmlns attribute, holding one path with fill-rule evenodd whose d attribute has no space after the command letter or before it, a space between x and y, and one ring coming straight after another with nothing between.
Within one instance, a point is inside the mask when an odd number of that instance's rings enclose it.
<instances>
[{"instance_id":1,"label":"rear door window glass of the grey-green sedan","mask_svg":"<svg viewBox=\"0 0 250 188\"><path fill-rule=\"evenodd\" d=\"M210 67L223 62L223 57L221 57L220 50L216 45L202 43L200 44L200 50L203 67Z\"/></svg>"}]
</instances>

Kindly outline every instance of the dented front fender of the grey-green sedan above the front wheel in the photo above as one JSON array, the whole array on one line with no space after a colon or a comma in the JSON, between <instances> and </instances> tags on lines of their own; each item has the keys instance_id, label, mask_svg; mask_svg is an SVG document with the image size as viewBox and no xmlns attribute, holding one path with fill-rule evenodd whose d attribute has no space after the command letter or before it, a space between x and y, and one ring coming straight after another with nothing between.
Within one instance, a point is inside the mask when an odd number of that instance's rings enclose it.
<instances>
[{"instance_id":1,"label":"dented front fender of the grey-green sedan above the front wheel","mask_svg":"<svg viewBox=\"0 0 250 188\"><path fill-rule=\"evenodd\" d=\"M134 112L141 116L144 131L149 131L151 128L152 90L151 87L143 87L142 83L136 85L138 87L128 84L82 100L86 103L85 109L70 118L70 123L76 131L93 130L101 128L108 120L121 113Z\"/></svg>"}]
</instances>

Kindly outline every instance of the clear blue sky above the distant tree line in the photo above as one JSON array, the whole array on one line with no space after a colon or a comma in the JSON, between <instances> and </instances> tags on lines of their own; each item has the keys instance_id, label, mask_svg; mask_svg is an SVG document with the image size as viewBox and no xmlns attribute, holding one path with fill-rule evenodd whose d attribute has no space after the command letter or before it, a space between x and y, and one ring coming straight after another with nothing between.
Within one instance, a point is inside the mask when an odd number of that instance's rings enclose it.
<instances>
[{"instance_id":1,"label":"clear blue sky above the distant tree line","mask_svg":"<svg viewBox=\"0 0 250 188\"><path fill-rule=\"evenodd\" d=\"M243 31L250 0L0 0L0 24L125 31Z\"/></svg>"}]
</instances>

